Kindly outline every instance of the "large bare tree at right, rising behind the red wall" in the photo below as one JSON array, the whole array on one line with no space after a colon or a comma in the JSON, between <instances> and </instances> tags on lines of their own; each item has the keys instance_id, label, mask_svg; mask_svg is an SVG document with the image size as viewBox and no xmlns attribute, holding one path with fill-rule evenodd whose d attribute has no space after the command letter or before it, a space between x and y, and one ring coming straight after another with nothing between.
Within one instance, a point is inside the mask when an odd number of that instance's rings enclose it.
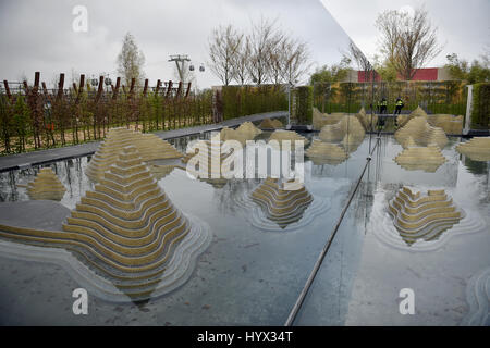
<instances>
[{"instance_id":1,"label":"large bare tree at right, rising behind the red wall","mask_svg":"<svg viewBox=\"0 0 490 348\"><path fill-rule=\"evenodd\" d=\"M376 26L381 32L381 51L406 80L442 51L437 28L424 8L415 10L413 15L385 11L378 15Z\"/></svg>"}]
</instances>

